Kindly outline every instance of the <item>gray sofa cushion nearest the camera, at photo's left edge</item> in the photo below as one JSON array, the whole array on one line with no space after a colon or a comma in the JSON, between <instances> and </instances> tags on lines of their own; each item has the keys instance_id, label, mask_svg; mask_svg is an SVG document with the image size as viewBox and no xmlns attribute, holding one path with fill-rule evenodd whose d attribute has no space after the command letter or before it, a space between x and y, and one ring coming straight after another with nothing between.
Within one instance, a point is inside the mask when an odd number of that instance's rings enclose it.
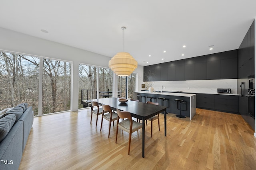
<instances>
[{"instance_id":1,"label":"gray sofa cushion nearest the camera, at photo's left edge","mask_svg":"<svg viewBox=\"0 0 256 170\"><path fill-rule=\"evenodd\" d=\"M8 114L0 119L0 142L6 137L16 121L15 114Z\"/></svg>"}]
</instances>

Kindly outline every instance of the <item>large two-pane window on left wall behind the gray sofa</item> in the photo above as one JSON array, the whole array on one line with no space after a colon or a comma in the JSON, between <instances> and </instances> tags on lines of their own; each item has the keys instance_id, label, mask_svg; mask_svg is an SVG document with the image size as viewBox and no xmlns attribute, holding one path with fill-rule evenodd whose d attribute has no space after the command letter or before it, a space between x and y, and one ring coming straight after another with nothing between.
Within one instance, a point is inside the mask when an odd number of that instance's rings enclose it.
<instances>
[{"instance_id":1,"label":"large two-pane window on left wall behind the gray sofa","mask_svg":"<svg viewBox=\"0 0 256 170\"><path fill-rule=\"evenodd\" d=\"M42 77L39 67L39 57L0 52L0 110L23 102L33 107L34 115L70 110L71 63L43 59Z\"/></svg>"}]
</instances>

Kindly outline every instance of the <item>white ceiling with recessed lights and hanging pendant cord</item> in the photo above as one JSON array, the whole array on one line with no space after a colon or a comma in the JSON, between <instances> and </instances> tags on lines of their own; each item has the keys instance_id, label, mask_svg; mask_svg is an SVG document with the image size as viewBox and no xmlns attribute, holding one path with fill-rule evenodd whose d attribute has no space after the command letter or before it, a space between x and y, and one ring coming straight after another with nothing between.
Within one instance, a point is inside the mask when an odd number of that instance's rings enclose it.
<instances>
[{"instance_id":1,"label":"white ceiling with recessed lights and hanging pendant cord","mask_svg":"<svg viewBox=\"0 0 256 170\"><path fill-rule=\"evenodd\" d=\"M238 49L256 17L256 0L0 0L0 6L2 28L108 57L122 51L125 26L124 51L142 66Z\"/></svg>"}]
</instances>

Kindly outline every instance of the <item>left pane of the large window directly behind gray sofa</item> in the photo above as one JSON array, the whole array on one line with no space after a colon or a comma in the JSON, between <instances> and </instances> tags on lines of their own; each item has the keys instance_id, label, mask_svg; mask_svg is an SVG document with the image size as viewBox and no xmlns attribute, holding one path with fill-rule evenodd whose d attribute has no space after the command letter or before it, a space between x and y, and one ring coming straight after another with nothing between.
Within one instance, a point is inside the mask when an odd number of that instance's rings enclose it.
<instances>
[{"instance_id":1,"label":"left pane of the large window directly behind gray sofa","mask_svg":"<svg viewBox=\"0 0 256 170\"><path fill-rule=\"evenodd\" d=\"M38 115L39 58L0 52L0 110L26 102Z\"/></svg>"}]
</instances>

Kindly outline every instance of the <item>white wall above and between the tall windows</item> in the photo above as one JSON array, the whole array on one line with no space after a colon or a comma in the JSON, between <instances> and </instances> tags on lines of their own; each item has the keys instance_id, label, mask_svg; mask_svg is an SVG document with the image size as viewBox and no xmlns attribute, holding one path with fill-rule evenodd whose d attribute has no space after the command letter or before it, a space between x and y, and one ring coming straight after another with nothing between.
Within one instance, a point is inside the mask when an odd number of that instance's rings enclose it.
<instances>
[{"instance_id":1,"label":"white wall above and between the tall windows","mask_svg":"<svg viewBox=\"0 0 256 170\"><path fill-rule=\"evenodd\" d=\"M78 64L90 64L108 68L108 61L111 59L111 57L32 37L4 28L0 28L0 37L1 51L10 51L72 62L72 111L78 110ZM143 66L138 66L134 72L138 73L138 77L143 77ZM142 84L142 81L143 80L138 78L138 84Z\"/></svg>"}]
</instances>

